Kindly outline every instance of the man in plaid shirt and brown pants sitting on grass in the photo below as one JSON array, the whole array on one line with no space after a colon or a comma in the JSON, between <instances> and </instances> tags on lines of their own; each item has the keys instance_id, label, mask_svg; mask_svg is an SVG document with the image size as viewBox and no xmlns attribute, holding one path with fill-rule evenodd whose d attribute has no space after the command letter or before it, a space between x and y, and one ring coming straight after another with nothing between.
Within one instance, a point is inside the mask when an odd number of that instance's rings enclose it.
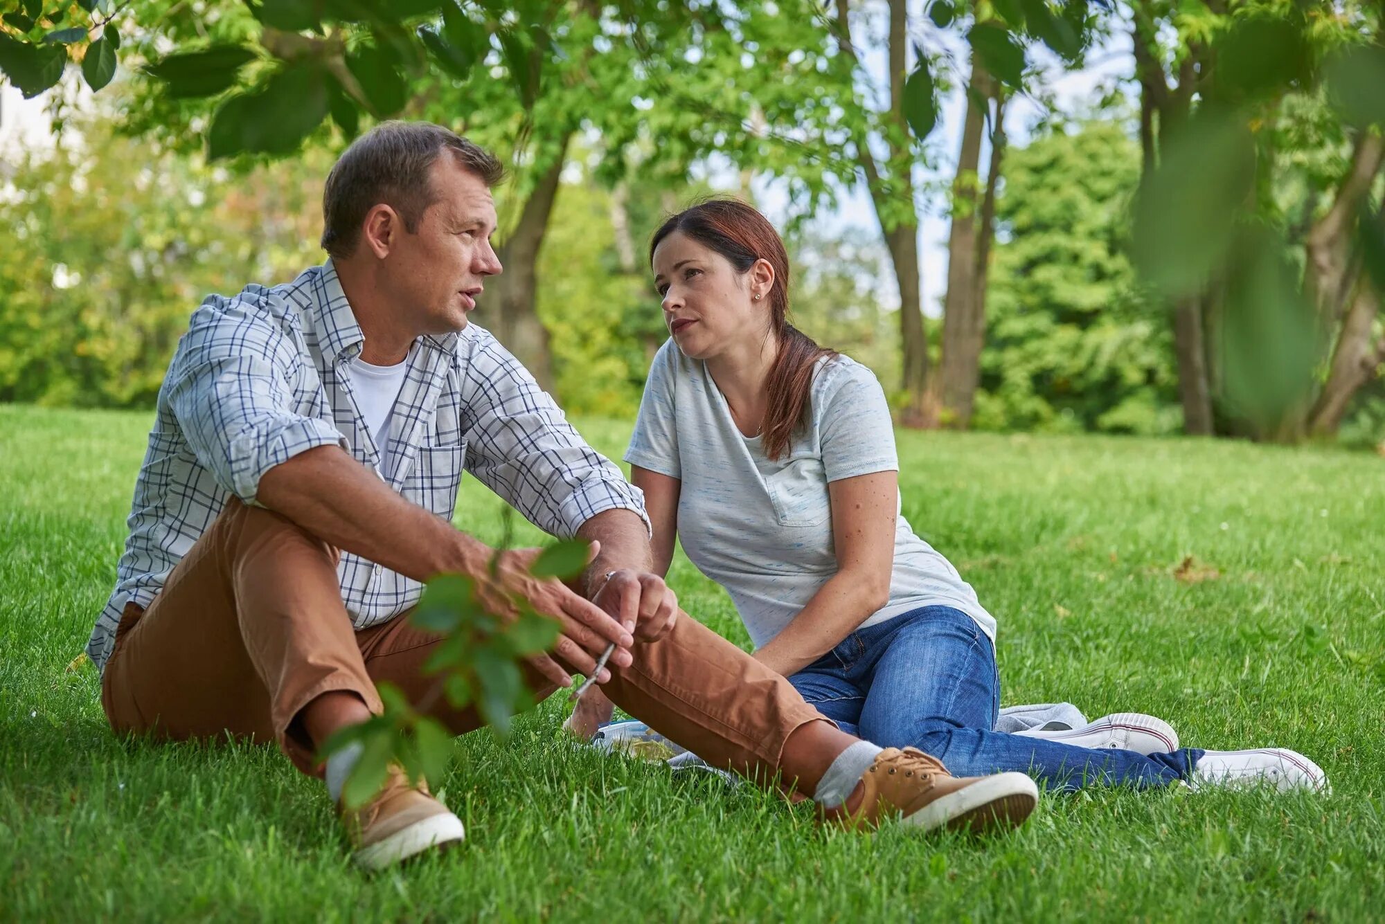
<instances>
[{"instance_id":1,"label":"man in plaid shirt and brown pants sitting on grass","mask_svg":"<svg viewBox=\"0 0 1385 924\"><path fill-rule=\"evenodd\" d=\"M319 768L332 733L379 712L375 683L416 704L439 636L407 614L421 582L471 575L561 624L528 664L542 699L597 671L607 696L711 764L783 779L827 819L903 815L1012 826L1019 773L956 779L913 748L841 732L783 676L691 618L651 574L638 490L593 451L489 333L468 326L486 277L500 163L429 123L385 123L337 162L323 195L327 263L274 288L209 296L163 379L130 535L87 652L116 732L274 740L339 800L359 750ZM540 528L593 542L587 598L450 526L463 469ZM432 705L453 733L471 710ZM357 859L379 867L463 837L393 768L359 812Z\"/></svg>"}]
</instances>

